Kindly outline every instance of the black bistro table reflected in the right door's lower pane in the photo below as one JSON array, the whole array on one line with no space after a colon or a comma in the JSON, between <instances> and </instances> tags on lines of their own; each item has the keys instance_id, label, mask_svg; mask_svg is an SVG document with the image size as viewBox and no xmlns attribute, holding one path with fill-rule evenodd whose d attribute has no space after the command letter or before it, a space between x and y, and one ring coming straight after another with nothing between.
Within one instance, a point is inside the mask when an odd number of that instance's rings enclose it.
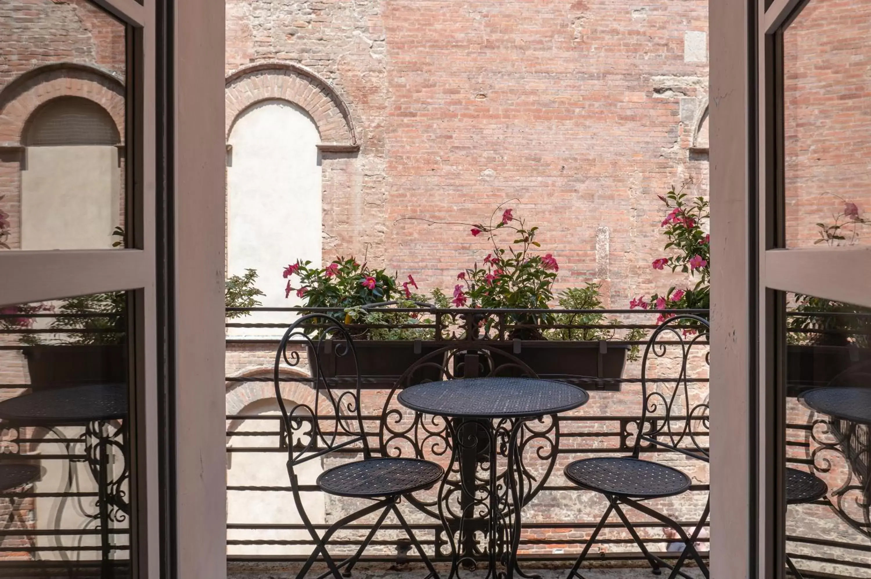
<instances>
[{"instance_id":1,"label":"black bistro table reflected in the right door's lower pane","mask_svg":"<svg viewBox=\"0 0 871 579\"><path fill-rule=\"evenodd\" d=\"M832 492L836 508L854 529L863 535L871 536L871 444L868 433L871 430L871 388L865 387L824 387L814 388L802 394L802 400L820 414L830 417L829 430L834 434L835 444L822 443L823 448L838 450L851 467L850 478L855 475L858 485L852 480ZM837 448L835 448L837 447ZM842 497L850 492L859 492L855 502L844 502ZM864 521L856 521L844 504L858 504Z\"/></svg>"}]
</instances>

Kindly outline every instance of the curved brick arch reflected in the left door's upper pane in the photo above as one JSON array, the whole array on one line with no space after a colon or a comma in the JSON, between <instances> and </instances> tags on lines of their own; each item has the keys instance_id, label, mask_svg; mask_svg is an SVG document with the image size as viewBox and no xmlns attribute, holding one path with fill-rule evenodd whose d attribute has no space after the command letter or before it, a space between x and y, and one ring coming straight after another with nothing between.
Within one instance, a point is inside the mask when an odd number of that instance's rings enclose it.
<instances>
[{"instance_id":1,"label":"curved brick arch reflected in the left door's upper pane","mask_svg":"<svg viewBox=\"0 0 871 579\"><path fill-rule=\"evenodd\" d=\"M110 115L124 142L125 88L111 72L85 64L58 63L25 72L0 91L0 142L20 145L30 115L58 97L87 98Z\"/></svg>"}]
</instances>

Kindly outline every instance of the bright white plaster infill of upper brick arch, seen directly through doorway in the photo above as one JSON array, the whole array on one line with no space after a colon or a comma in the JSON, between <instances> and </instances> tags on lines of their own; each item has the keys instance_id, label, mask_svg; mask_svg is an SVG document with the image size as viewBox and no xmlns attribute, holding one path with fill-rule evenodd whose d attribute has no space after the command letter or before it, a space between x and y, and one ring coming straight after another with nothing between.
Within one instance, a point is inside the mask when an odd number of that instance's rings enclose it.
<instances>
[{"instance_id":1,"label":"bright white plaster infill of upper brick arch, seen directly through doorway","mask_svg":"<svg viewBox=\"0 0 871 579\"><path fill-rule=\"evenodd\" d=\"M321 164L317 126L305 111L282 100L253 105L233 125L227 155L227 269L260 273L264 306L296 306L285 300L281 272L296 259L321 266ZM241 322L275 321L275 314ZM288 319L289 320L289 319ZM279 330L241 330L274 335Z\"/></svg>"}]
</instances>

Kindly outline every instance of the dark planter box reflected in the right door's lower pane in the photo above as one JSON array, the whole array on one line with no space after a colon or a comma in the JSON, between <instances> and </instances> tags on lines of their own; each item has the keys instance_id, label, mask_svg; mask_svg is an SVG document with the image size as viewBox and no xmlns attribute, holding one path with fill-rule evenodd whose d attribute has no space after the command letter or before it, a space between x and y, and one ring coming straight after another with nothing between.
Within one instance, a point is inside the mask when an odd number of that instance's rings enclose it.
<instances>
[{"instance_id":1,"label":"dark planter box reflected in the right door's lower pane","mask_svg":"<svg viewBox=\"0 0 871 579\"><path fill-rule=\"evenodd\" d=\"M827 386L847 368L871 360L871 350L851 346L787 346L787 395Z\"/></svg>"}]
</instances>

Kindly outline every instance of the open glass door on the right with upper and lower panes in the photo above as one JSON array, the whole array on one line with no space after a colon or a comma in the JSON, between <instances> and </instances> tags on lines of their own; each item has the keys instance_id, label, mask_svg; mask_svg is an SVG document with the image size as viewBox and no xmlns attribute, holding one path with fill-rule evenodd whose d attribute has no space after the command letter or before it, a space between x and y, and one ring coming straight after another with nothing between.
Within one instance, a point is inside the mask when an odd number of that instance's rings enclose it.
<instances>
[{"instance_id":1,"label":"open glass door on the right with upper and lower panes","mask_svg":"<svg viewBox=\"0 0 871 579\"><path fill-rule=\"evenodd\" d=\"M868 577L871 3L759 10L759 576Z\"/></svg>"}]
</instances>

